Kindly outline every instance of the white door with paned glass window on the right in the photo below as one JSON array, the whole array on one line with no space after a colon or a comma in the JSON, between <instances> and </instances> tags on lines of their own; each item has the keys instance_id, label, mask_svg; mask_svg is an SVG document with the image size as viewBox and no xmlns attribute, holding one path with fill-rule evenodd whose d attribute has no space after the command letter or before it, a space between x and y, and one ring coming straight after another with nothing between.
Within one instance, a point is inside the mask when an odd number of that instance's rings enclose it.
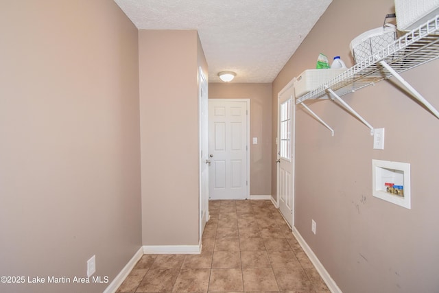
<instances>
[{"instance_id":1,"label":"white door with paned glass window on the right","mask_svg":"<svg viewBox=\"0 0 439 293\"><path fill-rule=\"evenodd\" d=\"M279 210L289 224L294 222L294 80L278 93L277 198Z\"/></svg>"}]
</instances>

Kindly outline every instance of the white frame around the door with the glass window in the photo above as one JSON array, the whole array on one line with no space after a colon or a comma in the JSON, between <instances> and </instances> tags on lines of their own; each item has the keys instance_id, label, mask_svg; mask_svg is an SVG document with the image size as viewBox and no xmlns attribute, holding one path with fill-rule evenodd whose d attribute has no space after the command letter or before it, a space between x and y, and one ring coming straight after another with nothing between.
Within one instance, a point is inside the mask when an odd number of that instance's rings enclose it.
<instances>
[{"instance_id":1,"label":"white frame around the door with the glass window","mask_svg":"<svg viewBox=\"0 0 439 293\"><path fill-rule=\"evenodd\" d=\"M279 115L279 109L281 107L280 104L280 97L283 93L285 93L285 91L289 90L292 86L294 86L294 84L296 83L296 78L293 78L290 82L288 82L288 84L281 89L281 91L279 91L279 93L277 94L277 137L276 137L276 159L280 159L280 147L281 147L281 143L280 142L280 137L281 137L281 129L279 127L280 124L280 120L281 120L281 115ZM295 215L295 211L294 211L294 207L295 207L295 192L296 192L296 185L295 185L295 181L296 181L296 96L293 95L292 97L292 107L291 107L291 111L292 111L292 150L291 150L291 156L292 156L292 226L294 226L294 215ZM280 195L279 195L279 168L281 166L276 163L276 204L277 207L279 207L279 202L280 202ZM282 213L281 213L282 215ZM282 215L284 216L284 215ZM285 221L288 223L288 221ZM292 228L292 227L291 227Z\"/></svg>"}]
</instances>

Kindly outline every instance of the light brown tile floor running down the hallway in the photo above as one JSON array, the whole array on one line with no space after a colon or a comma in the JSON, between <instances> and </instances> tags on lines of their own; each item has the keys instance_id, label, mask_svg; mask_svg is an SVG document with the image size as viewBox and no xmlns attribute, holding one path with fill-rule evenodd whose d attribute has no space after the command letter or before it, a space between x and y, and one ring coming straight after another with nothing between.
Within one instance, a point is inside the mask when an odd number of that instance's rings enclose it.
<instances>
[{"instance_id":1,"label":"light brown tile floor running down the hallway","mask_svg":"<svg viewBox=\"0 0 439 293\"><path fill-rule=\"evenodd\" d=\"M143 255L117 292L329 292L270 200L209 212L200 255Z\"/></svg>"}]
</instances>

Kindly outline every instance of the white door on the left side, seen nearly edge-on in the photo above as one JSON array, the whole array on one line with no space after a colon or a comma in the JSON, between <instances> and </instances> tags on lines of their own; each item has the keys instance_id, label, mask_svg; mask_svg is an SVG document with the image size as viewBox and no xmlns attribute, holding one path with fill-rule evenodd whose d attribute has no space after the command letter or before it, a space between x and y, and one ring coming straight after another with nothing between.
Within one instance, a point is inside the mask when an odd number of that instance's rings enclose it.
<instances>
[{"instance_id":1,"label":"white door on the left side, seen nearly edge-on","mask_svg":"<svg viewBox=\"0 0 439 293\"><path fill-rule=\"evenodd\" d=\"M208 83L204 76L202 69L199 71L199 125L200 125L200 239L203 235L204 226L209 220L208 205L209 205L209 108L208 108Z\"/></svg>"}]
</instances>

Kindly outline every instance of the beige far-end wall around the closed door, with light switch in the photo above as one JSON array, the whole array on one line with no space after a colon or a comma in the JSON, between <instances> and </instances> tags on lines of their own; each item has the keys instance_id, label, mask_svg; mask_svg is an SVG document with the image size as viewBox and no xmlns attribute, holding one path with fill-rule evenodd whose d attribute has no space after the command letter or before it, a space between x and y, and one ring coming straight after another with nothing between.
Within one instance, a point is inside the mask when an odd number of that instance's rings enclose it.
<instances>
[{"instance_id":1,"label":"beige far-end wall around the closed door, with light switch","mask_svg":"<svg viewBox=\"0 0 439 293\"><path fill-rule=\"evenodd\" d=\"M271 195L271 84L209 84L209 99L250 99L250 195ZM258 144L252 144L252 137Z\"/></svg>"}]
</instances>

